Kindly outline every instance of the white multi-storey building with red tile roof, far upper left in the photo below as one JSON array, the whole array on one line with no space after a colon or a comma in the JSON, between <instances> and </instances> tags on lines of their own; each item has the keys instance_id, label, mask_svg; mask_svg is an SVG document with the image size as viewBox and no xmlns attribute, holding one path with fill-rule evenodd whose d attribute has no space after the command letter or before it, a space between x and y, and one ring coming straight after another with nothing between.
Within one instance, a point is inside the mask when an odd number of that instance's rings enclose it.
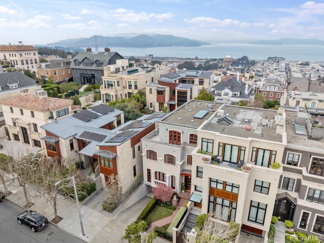
<instances>
[{"instance_id":1,"label":"white multi-storey building with red tile roof, far upper left","mask_svg":"<svg viewBox=\"0 0 324 243\"><path fill-rule=\"evenodd\" d=\"M28 69L37 77L38 50L30 45L0 45L0 60L19 69Z\"/></svg>"}]
</instances>

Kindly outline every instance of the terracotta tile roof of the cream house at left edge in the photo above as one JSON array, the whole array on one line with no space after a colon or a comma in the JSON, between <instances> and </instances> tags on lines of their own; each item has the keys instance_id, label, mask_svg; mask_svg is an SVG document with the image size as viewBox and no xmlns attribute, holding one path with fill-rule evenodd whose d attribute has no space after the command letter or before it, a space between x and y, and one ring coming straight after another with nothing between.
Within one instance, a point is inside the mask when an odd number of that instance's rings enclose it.
<instances>
[{"instance_id":1,"label":"terracotta tile roof of the cream house at left edge","mask_svg":"<svg viewBox=\"0 0 324 243\"><path fill-rule=\"evenodd\" d=\"M18 107L21 109L33 110L33 111L55 111L71 106L73 100L60 99L53 97L40 98L34 94L15 95L0 99L1 105L7 105L10 107Z\"/></svg>"}]
</instances>

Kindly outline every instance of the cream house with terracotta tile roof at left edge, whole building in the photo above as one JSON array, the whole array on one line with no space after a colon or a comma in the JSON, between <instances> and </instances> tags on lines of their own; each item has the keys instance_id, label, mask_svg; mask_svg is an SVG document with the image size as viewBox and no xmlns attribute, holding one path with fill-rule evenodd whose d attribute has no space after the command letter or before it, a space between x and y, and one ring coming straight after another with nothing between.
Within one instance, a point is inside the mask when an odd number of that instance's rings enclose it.
<instances>
[{"instance_id":1,"label":"cream house with terracotta tile roof at left edge, whole building","mask_svg":"<svg viewBox=\"0 0 324 243\"><path fill-rule=\"evenodd\" d=\"M37 91L36 95L21 94L0 99L8 136L21 144L39 148L44 148L41 126L78 111L79 107L72 103L70 99L48 97L44 90Z\"/></svg>"}]
</instances>

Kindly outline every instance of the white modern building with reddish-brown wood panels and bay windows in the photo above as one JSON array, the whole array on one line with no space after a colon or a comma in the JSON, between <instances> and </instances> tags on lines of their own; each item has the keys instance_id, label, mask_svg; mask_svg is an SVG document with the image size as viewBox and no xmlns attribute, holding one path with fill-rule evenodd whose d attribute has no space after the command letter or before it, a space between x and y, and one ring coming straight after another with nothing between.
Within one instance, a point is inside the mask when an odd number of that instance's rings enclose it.
<instances>
[{"instance_id":1,"label":"white modern building with reddish-brown wood panels and bay windows","mask_svg":"<svg viewBox=\"0 0 324 243\"><path fill-rule=\"evenodd\" d=\"M201 89L211 91L213 85L214 72L176 70L146 84L147 107L153 111L161 111L165 107L173 111L196 97Z\"/></svg>"}]
</instances>

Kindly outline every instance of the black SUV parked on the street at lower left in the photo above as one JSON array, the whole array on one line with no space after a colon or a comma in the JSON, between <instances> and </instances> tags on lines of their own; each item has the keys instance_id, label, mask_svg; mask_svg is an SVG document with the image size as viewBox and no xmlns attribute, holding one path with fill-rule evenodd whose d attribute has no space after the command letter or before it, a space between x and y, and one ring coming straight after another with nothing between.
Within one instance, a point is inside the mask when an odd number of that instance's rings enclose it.
<instances>
[{"instance_id":1,"label":"black SUV parked on the street at lower left","mask_svg":"<svg viewBox=\"0 0 324 243\"><path fill-rule=\"evenodd\" d=\"M23 224L31 228L32 232L42 230L49 224L47 218L31 210L27 210L21 213L20 215L18 215L17 220L18 220L18 224Z\"/></svg>"}]
</instances>

